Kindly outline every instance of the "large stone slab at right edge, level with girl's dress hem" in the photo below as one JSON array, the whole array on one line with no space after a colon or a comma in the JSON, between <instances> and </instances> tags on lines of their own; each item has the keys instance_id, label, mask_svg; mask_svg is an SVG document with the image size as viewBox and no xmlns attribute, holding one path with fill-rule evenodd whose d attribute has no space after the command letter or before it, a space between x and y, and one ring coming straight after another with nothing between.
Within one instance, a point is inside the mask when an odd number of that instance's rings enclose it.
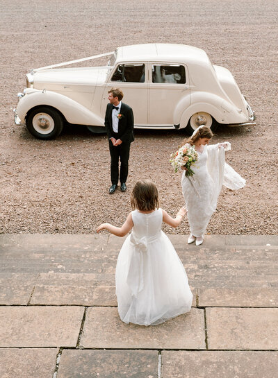
<instances>
[{"instance_id":1,"label":"large stone slab at right edge, level with girl's dress hem","mask_svg":"<svg viewBox=\"0 0 278 378\"><path fill-rule=\"evenodd\" d=\"M206 309L209 350L278 350L278 308Z\"/></svg>"}]
</instances>

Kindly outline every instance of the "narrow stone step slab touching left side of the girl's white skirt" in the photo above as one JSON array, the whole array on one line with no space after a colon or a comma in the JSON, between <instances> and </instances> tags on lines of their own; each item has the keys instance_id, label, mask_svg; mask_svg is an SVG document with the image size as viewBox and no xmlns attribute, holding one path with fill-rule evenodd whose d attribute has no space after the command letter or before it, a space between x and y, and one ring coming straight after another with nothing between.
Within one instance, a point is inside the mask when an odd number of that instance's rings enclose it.
<instances>
[{"instance_id":1,"label":"narrow stone step slab touching left side of the girl's white skirt","mask_svg":"<svg viewBox=\"0 0 278 378\"><path fill-rule=\"evenodd\" d=\"M117 306L115 286L36 285L31 304Z\"/></svg>"}]
</instances>

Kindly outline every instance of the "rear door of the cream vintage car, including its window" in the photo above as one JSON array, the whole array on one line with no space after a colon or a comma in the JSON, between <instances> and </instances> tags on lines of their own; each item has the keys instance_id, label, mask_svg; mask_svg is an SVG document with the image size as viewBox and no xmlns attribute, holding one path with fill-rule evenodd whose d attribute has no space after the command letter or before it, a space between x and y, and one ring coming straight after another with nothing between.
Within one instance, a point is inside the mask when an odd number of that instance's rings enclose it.
<instances>
[{"instance_id":1,"label":"rear door of the cream vintage car, including its window","mask_svg":"<svg viewBox=\"0 0 278 378\"><path fill-rule=\"evenodd\" d=\"M149 126L173 126L179 101L183 98L185 108L190 105L187 67L165 62L149 66Z\"/></svg>"}]
</instances>

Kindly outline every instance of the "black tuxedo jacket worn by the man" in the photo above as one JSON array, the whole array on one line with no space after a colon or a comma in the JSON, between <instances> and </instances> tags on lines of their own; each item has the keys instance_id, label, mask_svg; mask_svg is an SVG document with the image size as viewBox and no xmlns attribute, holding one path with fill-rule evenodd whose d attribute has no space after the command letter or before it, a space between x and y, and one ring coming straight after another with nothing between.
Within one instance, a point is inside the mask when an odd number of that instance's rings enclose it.
<instances>
[{"instance_id":1,"label":"black tuxedo jacket worn by the man","mask_svg":"<svg viewBox=\"0 0 278 378\"><path fill-rule=\"evenodd\" d=\"M121 139L124 143L131 143L134 140L133 127L133 111L129 105L122 103L120 114L122 118L119 119L119 128L118 132L115 133L112 127L112 110L113 105L111 103L107 104L106 113L105 113L105 130L108 135L108 139L115 138Z\"/></svg>"}]
</instances>

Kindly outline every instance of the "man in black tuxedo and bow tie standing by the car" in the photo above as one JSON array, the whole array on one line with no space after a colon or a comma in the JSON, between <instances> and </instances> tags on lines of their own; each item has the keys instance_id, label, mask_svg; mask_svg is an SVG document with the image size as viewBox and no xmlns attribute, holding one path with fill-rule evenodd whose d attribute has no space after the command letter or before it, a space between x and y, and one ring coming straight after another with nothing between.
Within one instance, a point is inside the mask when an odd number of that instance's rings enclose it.
<instances>
[{"instance_id":1,"label":"man in black tuxedo and bow tie standing by the car","mask_svg":"<svg viewBox=\"0 0 278 378\"><path fill-rule=\"evenodd\" d=\"M111 155L111 182L109 193L113 194L119 181L120 157L120 183L121 191L126 191L126 178L129 173L129 149L133 136L133 112L129 105L122 103L124 94L121 89L112 88L108 91L109 103L105 114L105 130L109 139Z\"/></svg>"}]
</instances>

